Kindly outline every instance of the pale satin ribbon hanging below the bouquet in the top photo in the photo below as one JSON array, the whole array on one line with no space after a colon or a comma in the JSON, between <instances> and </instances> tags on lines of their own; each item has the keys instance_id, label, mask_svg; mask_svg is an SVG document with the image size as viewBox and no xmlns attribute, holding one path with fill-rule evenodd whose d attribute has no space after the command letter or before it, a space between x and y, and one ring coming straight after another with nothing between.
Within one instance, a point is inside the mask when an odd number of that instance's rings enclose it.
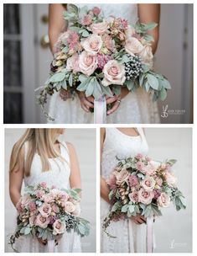
<instances>
[{"instance_id":1,"label":"pale satin ribbon hanging below the bouquet in the top photo","mask_svg":"<svg viewBox=\"0 0 197 256\"><path fill-rule=\"evenodd\" d=\"M106 123L106 98L104 96L94 101L94 123Z\"/></svg>"}]
</instances>

